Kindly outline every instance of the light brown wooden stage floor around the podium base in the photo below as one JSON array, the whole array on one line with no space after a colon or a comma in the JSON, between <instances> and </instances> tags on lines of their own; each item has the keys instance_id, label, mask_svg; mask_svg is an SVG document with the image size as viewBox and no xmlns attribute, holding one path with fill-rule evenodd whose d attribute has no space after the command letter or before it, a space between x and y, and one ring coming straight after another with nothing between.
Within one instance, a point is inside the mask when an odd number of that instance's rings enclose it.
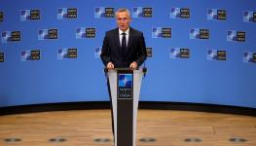
<instances>
[{"instance_id":1,"label":"light brown wooden stage floor around the podium base","mask_svg":"<svg viewBox=\"0 0 256 146\"><path fill-rule=\"evenodd\" d=\"M113 146L110 110L0 116L1 146ZM137 146L255 146L256 117L139 109Z\"/></svg>"}]
</instances>

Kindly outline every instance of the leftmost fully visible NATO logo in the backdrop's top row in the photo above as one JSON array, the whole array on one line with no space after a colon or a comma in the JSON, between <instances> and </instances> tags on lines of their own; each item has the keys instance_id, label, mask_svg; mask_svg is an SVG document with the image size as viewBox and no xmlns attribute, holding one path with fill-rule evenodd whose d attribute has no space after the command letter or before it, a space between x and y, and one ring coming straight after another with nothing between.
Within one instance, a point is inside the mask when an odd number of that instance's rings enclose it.
<instances>
[{"instance_id":1,"label":"leftmost fully visible NATO logo in the backdrop's top row","mask_svg":"<svg viewBox=\"0 0 256 146\"><path fill-rule=\"evenodd\" d=\"M40 10L20 10L20 20L40 19Z\"/></svg>"}]
</instances>

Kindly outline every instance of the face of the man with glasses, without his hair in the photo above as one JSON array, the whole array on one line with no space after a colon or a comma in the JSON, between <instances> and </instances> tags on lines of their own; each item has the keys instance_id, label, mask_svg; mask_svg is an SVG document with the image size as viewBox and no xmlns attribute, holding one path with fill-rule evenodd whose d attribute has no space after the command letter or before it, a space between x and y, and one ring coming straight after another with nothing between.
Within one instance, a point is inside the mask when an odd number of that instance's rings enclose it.
<instances>
[{"instance_id":1,"label":"face of the man with glasses, without his hair","mask_svg":"<svg viewBox=\"0 0 256 146\"><path fill-rule=\"evenodd\" d=\"M127 12L120 12L117 14L117 24L122 31L128 30L130 18Z\"/></svg>"}]
</instances>

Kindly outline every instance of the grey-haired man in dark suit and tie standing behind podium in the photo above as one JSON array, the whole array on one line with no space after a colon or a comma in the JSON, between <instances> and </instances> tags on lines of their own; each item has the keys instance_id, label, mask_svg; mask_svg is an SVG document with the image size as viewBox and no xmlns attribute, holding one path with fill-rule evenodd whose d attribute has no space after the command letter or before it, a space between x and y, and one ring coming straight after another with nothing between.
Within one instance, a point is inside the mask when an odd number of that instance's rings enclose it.
<instances>
[{"instance_id":1,"label":"grey-haired man in dark suit and tie standing behind podium","mask_svg":"<svg viewBox=\"0 0 256 146\"><path fill-rule=\"evenodd\" d=\"M128 9L119 9L116 12L118 27L107 31L101 50L101 60L107 69L138 68L146 59L146 45L143 33L131 28L130 13ZM108 92L111 99L109 81L107 81ZM112 104L111 104L112 105ZM114 134L113 109L112 132Z\"/></svg>"}]
</instances>

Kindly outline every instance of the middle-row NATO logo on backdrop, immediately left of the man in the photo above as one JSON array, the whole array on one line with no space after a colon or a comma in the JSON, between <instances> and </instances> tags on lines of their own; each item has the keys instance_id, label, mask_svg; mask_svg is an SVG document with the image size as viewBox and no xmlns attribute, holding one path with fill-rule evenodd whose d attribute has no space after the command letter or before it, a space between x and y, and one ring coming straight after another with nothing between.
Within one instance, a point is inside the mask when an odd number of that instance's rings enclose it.
<instances>
[{"instance_id":1,"label":"middle-row NATO logo on backdrop, immediately left of the man","mask_svg":"<svg viewBox=\"0 0 256 146\"><path fill-rule=\"evenodd\" d=\"M96 28L95 27L79 27L76 30L76 39L84 38L95 38L96 37Z\"/></svg>"}]
</instances>

